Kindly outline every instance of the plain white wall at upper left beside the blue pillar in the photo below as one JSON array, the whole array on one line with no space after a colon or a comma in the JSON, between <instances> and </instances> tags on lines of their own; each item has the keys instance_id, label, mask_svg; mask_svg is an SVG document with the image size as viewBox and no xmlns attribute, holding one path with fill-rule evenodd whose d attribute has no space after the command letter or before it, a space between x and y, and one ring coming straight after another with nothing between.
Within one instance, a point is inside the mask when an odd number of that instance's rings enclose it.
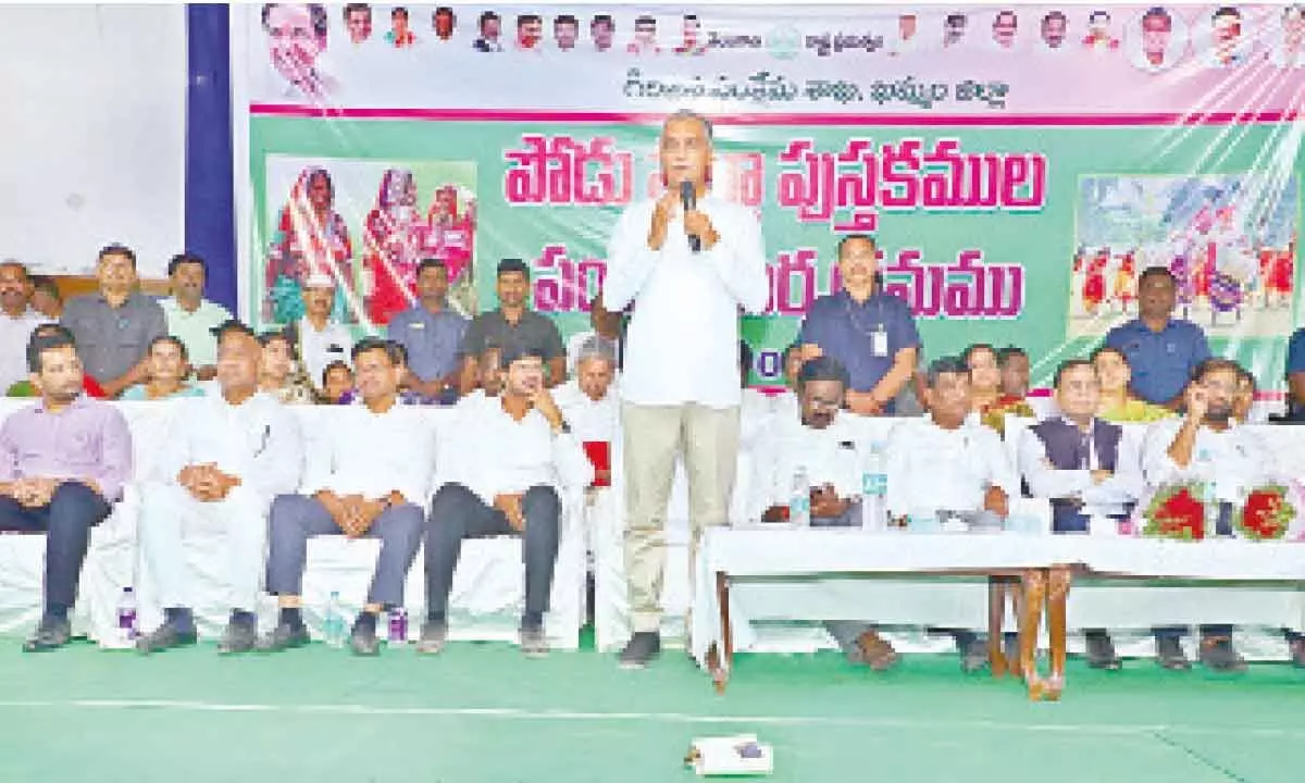
<instances>
[{"instance_id":1,"label":"plain white wall at upper left beside the blue pillar","mask_svg":"<svg viewBox=\"0 0 1305 783\"><path fill-rule=\"evenodd\" d=\"M183 249L185 5L0 5L0 258L89 271Z\"/></svg>"}]
</instances>

